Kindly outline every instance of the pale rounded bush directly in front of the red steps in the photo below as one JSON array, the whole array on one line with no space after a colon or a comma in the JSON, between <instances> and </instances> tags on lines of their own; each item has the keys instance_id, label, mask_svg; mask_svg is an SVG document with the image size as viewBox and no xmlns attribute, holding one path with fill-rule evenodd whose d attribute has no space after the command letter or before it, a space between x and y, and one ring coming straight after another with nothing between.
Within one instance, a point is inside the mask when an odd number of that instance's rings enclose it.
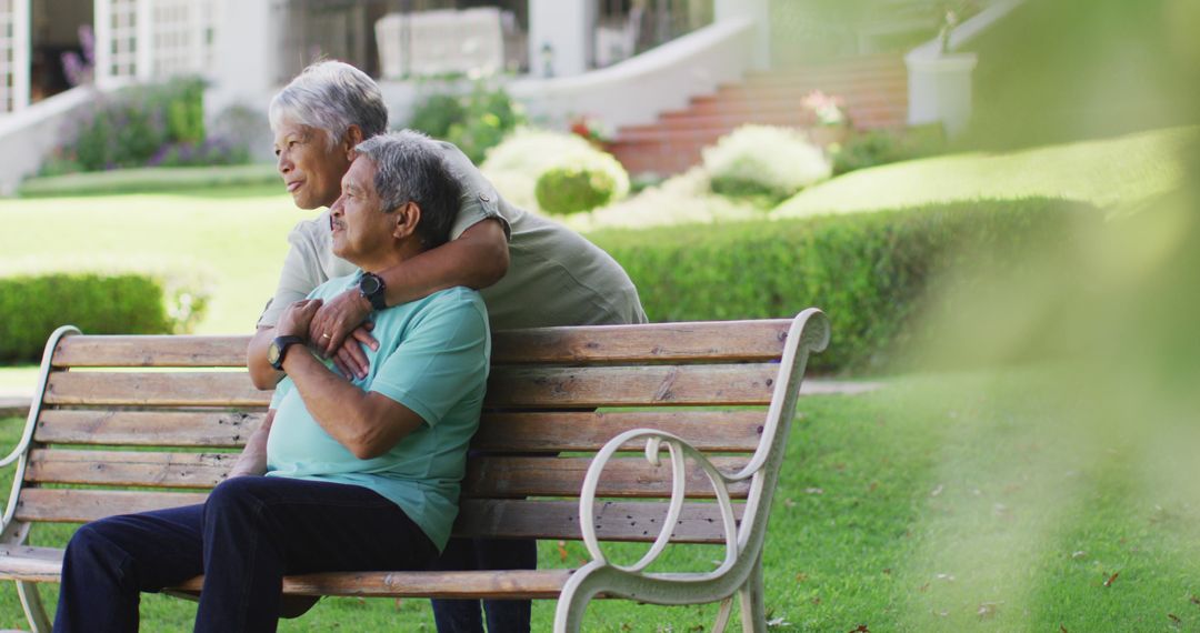
<instances>
[{"instance_id":1,"label":"pale rounded bush directly in front of the red steps","mask_svg":"<svg viewBox=\"0 0 1200 633\"><path fill-rule=\"evenodd\" d=\"M786 127L743 126L703 150L714 192L784 199L829 177L833 168L821 147Z\"/></svg>"}]
</instances>

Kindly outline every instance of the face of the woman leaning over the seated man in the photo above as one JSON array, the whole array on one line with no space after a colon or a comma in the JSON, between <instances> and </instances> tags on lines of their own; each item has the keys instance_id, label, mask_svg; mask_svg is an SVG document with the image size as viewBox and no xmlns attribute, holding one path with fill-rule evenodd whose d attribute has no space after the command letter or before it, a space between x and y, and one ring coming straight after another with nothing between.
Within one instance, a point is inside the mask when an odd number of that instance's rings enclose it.
<instances>
[{"instance_id":1,"label":"face of the woman leaning over the seated man","mask_svg":"<svg viewBox=\"0 0 1200 633\"><path fill-rule=\"evenodd\" d=\"M314 127L290 121L275 131L276 168L300 209L330 206L350 161L342 144L329 146L329 137Z\"/></svg>"}]
</instances>

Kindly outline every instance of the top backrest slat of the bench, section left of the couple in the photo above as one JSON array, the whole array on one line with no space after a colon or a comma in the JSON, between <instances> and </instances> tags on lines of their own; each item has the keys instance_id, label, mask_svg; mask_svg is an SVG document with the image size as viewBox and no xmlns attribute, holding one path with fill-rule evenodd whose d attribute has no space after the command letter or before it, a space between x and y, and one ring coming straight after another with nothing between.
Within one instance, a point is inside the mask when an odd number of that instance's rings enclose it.
<instances>
[{"instance_id":1,"label":"top backrest slat of the bench, section left of the couple","mask_svg":"<svg viewBox=\"0 0 1200 633\"><path fill-rule=\"evenodd\" d=\"M54 349L54 367L246 367L246 336L76 334Z\"/></svg>"}]
</instances>

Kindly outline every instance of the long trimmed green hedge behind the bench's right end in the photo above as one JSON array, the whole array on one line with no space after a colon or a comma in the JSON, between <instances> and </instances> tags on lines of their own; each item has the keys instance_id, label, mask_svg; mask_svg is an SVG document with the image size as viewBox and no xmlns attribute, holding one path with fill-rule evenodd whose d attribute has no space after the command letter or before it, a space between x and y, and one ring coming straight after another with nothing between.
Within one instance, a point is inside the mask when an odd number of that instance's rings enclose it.
<instances>
[{"instance_id":1,"label":"long trimmed green hedge behind the bench's right end","mask_svg":"<svg viewBox=\"0 0 1200 633\"><path fill-rule=\"evenodd\" d=\"M994 272L1020 269L1033 249L1058 246L1076 223L1100 217L1086 205L1032 198L589 237L625 267L656 322L790 318L821 307L834 339L814 368L829 372L888 368L925 336L916 316L955 309L938 295L946 283L968 290L956 295L968 301Z\"/></svg>"}]
</instances>

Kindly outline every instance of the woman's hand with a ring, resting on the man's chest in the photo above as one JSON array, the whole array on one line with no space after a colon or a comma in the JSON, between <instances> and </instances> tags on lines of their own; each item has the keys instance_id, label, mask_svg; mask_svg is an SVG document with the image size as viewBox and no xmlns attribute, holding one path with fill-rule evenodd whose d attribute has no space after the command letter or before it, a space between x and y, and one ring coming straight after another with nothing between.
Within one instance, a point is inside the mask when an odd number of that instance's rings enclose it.
<instances>
[{"instance_id":1,"label":"woman's hand with a ring, resting on the man's chest","mask_svg":"<svg viewBox=\"0 0 1200 633\"><path fill-rule=\"evenodd\" d=\"M366 378L370 361L361 345L379 349L371 336L373 324L367 321L371 303L355 289L349 289L325 302L308 324L313 349L323 357L334 357L334 364L347 378Z\"/></svg>"}]
</instances>

